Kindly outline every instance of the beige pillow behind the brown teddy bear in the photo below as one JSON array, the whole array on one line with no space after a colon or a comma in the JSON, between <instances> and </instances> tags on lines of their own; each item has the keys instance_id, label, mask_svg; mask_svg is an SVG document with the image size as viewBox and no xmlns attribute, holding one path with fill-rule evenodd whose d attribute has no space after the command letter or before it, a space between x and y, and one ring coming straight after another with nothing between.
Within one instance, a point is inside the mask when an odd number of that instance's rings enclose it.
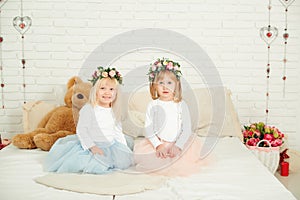
<instances>
[{"instance_id":1,"label":"beige pillow behind the brown teddy bear","mask_svg":"<svg viewBox=\"0 0 300 200\"><path fill-rule=\"evenodd\" d=\"M23 129L24 132L30 132L36 129L42 118L56 105L45 103L43 101L30 101L23 105Z\"/></svg>"}]
</instances>

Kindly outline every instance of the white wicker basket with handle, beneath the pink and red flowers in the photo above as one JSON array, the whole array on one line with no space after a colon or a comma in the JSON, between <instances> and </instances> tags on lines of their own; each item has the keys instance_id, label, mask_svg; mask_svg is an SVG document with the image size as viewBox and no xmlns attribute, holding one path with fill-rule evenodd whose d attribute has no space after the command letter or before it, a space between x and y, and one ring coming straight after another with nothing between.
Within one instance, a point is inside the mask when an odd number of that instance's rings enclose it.
<instances>
[{"instance_id":1,"label":"white wicker basket with handle, beneath the pink and red flowers","mask_svg":"<svg viewBox=\"0 0 300 200\"><path fill-rule=\"evenodd\" d=\"M261 142L268 143L269 147L259 147ZM279 159L280 159L280 152L279 147L272 147L268 140L261 140L257 143L256 146L248 146L248 149L266 166L270 172L273 174L276 172Z\"/></svg>"}]
</instances>

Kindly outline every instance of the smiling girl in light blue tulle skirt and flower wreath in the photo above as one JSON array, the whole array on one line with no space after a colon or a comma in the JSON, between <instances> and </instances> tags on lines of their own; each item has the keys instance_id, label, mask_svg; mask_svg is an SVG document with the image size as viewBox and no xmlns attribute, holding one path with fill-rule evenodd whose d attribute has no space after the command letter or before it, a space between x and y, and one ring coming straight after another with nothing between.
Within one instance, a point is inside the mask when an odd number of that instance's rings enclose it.
<instances>
[{"instance_id":1,"label":"smiling girl in light blue tulle skirt and flower wreath","mask_svg":"<svg viewBox=\"0 0 300 200\"><path fill-rule=\"evenodd\" d=\"M90 81L93 87L79 112L76 134L55 142L44 163L46 171L103 174L133 164L120 122L121 74L98 67Z\"/></svg>"}]
</instances>

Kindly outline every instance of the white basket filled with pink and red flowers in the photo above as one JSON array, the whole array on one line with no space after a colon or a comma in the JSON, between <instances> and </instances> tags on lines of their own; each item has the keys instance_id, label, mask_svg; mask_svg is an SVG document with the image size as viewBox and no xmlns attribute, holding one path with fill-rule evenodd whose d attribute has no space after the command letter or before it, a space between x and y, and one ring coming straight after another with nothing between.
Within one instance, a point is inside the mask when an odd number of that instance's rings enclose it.
<instances>
[{"instance_id":1,"label":"white basket filled with pink and red flowers","mask_svg":"<svg viewBox=\"0 0 300 200\"><path fill-rule=\"evenodd\" d=\"M284 134L274 126L263 122L244 126L244 144L274 174L279 164L279 148L284 143Z\"/></svg>"}]
</instances>

